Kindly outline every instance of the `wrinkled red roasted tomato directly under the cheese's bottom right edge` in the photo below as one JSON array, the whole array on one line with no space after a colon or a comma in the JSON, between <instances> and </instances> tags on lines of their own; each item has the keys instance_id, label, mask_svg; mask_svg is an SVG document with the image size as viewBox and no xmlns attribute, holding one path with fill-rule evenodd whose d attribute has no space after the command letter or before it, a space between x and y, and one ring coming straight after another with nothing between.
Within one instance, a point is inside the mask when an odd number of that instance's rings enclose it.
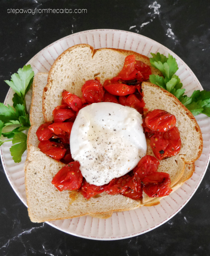
<instances>
[{"instance_id":1,"label":"wrinkled red roasted tomato directly under the cheese's bottom right edge","mask_svg":"<svg viewBox=\"0 0 210 256\"><path fill-rule=\"evenodd\" d=\"M113 179L105 187L105 192L110 195L116 195L124 192L128 188L128 182L130 181L130 175L124 175L122 177Z\"/></svg>"}]
</instances>

